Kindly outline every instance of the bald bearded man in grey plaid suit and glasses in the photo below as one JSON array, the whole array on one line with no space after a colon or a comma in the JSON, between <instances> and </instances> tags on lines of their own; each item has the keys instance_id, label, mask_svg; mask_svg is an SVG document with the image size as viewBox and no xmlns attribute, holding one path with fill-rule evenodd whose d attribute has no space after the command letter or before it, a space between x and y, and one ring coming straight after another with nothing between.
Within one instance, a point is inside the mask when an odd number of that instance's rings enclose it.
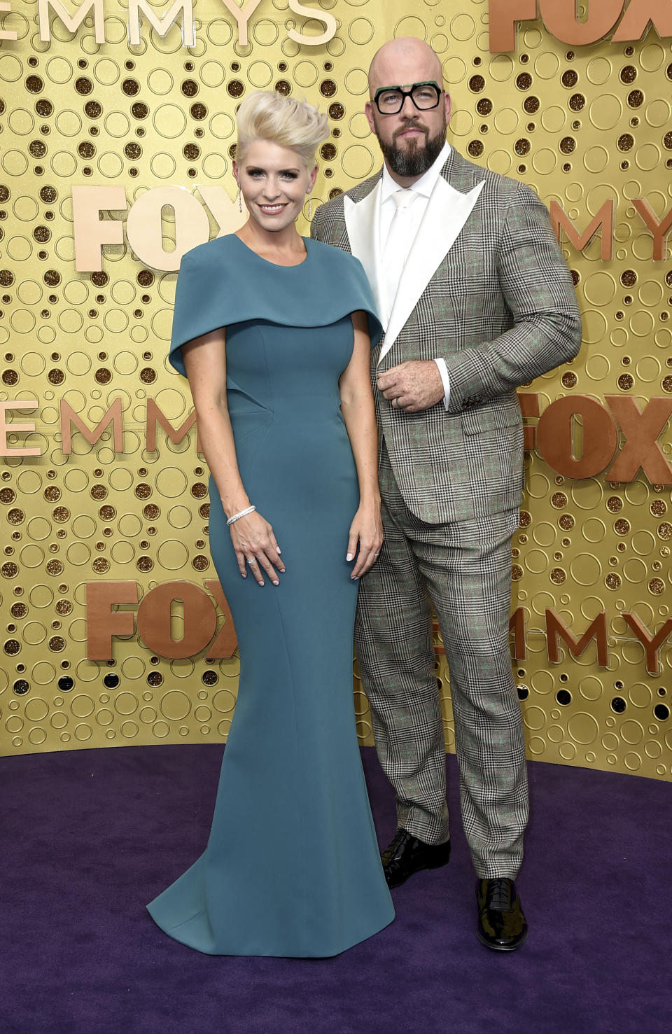
<instances>
[{"instance_id":1,"label":"bald bearded man in grey plaid suit and glasses","mask_svg":"<svg viewBox=\"0 0 672 1034\"><path fill-rule=\"evenodd\" d=\"M357 255L386 329L372 352L385 544L360 586L356 645L378 757L397 796L390 886L448 861L444 724L431 607L446 648L478 936L513 950L527 821L509 651L511 540L524 482L516 389L576 356L581 321L548 212L446 141L440 61L386 43L366 116L385 164L323 205L312 236ZM337 290L337 285L335 286Z\"/></svg>"}]
</instances>

